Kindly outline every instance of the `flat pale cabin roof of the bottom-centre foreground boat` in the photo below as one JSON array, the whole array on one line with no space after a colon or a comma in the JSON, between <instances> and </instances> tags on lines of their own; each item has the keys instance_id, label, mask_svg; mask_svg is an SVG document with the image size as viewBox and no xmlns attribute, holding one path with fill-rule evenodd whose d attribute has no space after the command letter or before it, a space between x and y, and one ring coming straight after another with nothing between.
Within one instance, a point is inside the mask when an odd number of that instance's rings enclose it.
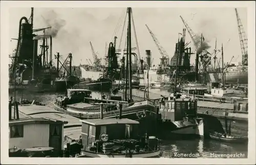
<instances>
[{"instance_id":1,"label":"flat pale cabin roof of the bottom-centre foreground boat","mask_svg":"<svg viewBox=\"0 0 256 165\"><path fill-rule=\"evenodd\" d=\"M131 119L88 119L81 120L82 123L89 125L111 125L111 124L139 124L138 121Z\"/></svg>"}]
</instances>

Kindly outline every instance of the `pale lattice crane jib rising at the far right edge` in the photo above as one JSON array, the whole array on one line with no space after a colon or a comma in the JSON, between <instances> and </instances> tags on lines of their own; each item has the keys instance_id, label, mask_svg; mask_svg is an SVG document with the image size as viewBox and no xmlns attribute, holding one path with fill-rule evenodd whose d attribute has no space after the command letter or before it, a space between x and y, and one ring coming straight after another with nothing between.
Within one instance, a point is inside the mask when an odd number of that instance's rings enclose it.
<instances>
[{"instance_id":1,"label":"pale lattice crane jib rising at the far right edge","mask_svg":"<svg viewBox=\"0 0 256 165\"><path fill-rule=\"evenodd\" d=\"M238 32L239 32L240 45L242 50L242 65L248 66L248 40L245 34L244 26L239 17L238 10L237 8L234 10L236 11L237 21L238 21Z\"/></svg>"}]
</instances>

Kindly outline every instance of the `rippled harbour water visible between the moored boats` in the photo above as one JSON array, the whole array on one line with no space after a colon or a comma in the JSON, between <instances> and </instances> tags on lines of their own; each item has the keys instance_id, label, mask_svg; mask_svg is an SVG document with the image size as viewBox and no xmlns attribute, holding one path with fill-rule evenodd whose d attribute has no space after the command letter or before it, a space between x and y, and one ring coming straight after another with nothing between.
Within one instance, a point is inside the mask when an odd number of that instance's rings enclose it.
<instances>
[{"instance_id":1,"label":"rippled harbour water visible between the moored boats","mask_svg":"<svg viewBox=\"0 0 256 165\"><path fill-rule=\"evenodd\" d=\"M163 91L155 90L153 93L163 93ZM63 93L28 93L16 91L16 100L19 98L36 100L52 106L57 96L63 95ZM9 97L14 96L14 93L9 93ZM93 97L100 97L100 93L93 92ZM205 157L214 158L213 155L220 154L242 154L240 157L247 157L247 144L230 144L226 142L220 142L215 140L180 140L180 141L161 141L161 149L163 151L163 157ZM187 154L187 155L186 155Z\"/></svg>"}]
</instances>

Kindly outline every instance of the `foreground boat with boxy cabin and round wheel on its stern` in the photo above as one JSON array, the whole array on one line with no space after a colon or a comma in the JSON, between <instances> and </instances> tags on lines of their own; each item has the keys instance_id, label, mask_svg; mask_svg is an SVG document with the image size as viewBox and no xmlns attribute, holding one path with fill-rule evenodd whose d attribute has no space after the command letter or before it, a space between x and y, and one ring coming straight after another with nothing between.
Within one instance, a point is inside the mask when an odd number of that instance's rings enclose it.
<instances>
[{"instance_id":1,"label":"foreground boat with boxy cabin and round wheel on its stern","mask_svg":"<svg viewBox=\"0 0 256 165\"><path fill-rule=\"evenodd\" d=\"M139 122L122 119L82 120L81 154L76 157L159 158L162 152L155 136L139 134Z\"/></svg>"}]
</instances>

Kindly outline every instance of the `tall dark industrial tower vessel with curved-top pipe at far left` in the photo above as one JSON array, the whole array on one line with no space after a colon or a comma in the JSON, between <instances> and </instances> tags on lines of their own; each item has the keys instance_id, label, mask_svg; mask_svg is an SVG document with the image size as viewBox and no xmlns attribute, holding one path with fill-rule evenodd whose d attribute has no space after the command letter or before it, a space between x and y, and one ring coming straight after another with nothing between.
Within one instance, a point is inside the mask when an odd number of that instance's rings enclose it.
<instances>
[{"instance_id":1,"label":"tall dark industrial tower vessel with curved-top pipe at far left","mask_svg":"<svg viewBox=\"0 0 256 165\"><path fill-rule=\"evenodd\" d=\"M27 17L19 20L17 47L9 68L9 90L17 88L30 91L52 91L54 79L57 76L57 71L52 64L52 36L34 34L34 32L49 30L51 27L33 30L33 8L31 8L30 18L30 22ZM37 55L38 40L42 40L39 55Z\"/></svg>"}]
</instances>

